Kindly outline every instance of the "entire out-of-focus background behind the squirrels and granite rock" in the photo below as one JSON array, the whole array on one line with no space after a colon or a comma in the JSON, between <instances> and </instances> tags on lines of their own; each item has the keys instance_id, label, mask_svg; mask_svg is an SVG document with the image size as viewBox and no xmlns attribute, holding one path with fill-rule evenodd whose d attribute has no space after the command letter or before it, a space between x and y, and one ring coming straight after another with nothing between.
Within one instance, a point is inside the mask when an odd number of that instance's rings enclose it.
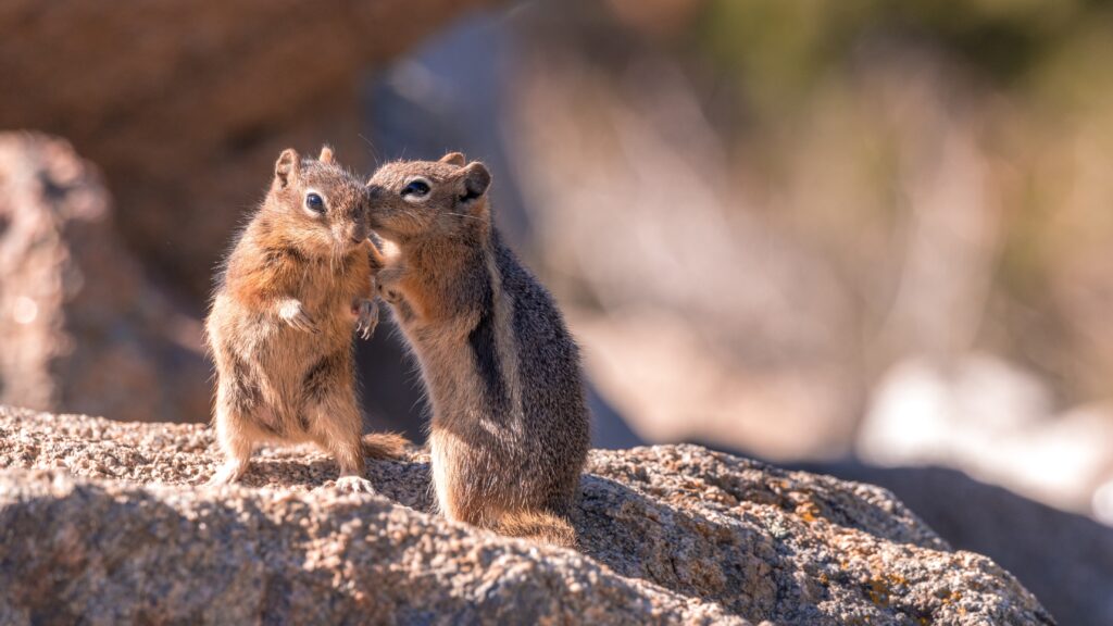
<instances>
[{"instance_id":1,"label":"entire out-of-focus background behind the squirrels and granite rock","mask_svg":"<svg viewBox=\"0 0 1113 626\"><path fill-rule=\"evenodd\" d=\"M1113 6L0 3L0 401L206 421L278 153L460 149L584 349L595 444L893 489L1113 624ZM413 363L359 348L373 428Z\"/></svg>"}]
</instances>

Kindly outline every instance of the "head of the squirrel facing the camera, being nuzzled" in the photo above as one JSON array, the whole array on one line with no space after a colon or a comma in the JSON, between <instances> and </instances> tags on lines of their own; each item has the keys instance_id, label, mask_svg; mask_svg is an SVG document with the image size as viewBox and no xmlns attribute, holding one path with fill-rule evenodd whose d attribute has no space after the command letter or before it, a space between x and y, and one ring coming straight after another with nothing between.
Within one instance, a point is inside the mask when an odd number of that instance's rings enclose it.
<instances>
[{"instance_id":1,"label":"head of the squirrel facing the camera, being nuzzled","mask_svg":"<svg viewBox=\"0 0 1113 626\"><path fill-rule=\"evenodd\" d=\"M359 179L333 160L325 146L317 158L287 148L275 163L267 204L293 226L294 242L318 254L344 254L367 238L367 195Z\"/></svg>"}]
</instances>

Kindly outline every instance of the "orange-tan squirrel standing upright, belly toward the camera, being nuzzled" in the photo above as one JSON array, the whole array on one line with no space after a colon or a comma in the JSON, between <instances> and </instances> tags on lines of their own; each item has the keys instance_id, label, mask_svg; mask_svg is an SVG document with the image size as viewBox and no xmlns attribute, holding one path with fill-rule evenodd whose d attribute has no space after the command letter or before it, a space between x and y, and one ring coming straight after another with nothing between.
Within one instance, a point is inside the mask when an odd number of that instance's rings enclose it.
<instances>
[{"instance_id":1,"label":"orange-tan squirrel standing upright, belly toward the camera, being nuzzled","mask_svg":"<svg viewBox=\"0 0 1113 626\"><path fill-rule=\"evenodd\" d=\"M334 163L282 153L258 212L225 262L205 332L216 363L215 426L226 461L209 485L234 482L258 441L314 442L339 466L338 488L372 491L364 456L398 457L397 434L362 437L353 331L378 321L377 255L366 192Z\"/></svg>"}]
</instances>

